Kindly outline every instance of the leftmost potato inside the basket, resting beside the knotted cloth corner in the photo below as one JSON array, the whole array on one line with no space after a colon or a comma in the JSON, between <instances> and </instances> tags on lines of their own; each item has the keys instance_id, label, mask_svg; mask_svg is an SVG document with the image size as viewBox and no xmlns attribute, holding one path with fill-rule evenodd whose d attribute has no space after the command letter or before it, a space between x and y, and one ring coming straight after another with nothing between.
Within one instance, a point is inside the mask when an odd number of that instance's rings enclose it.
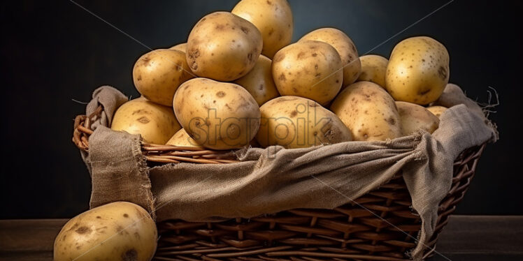
<instances>
[{"instance_id":1,"label":"leftmost potato inside the basket, resting beside the knotted cloth corner","mask_svg":"<svg viewBox=\"0 0 523 261\"><path fill-rule=\"evenodd\" d=\"M180 124L173 108L136 98L116 110L110 128L140 134L145 142L165 144L180 129Z\"/></svg>"}]
</instances>

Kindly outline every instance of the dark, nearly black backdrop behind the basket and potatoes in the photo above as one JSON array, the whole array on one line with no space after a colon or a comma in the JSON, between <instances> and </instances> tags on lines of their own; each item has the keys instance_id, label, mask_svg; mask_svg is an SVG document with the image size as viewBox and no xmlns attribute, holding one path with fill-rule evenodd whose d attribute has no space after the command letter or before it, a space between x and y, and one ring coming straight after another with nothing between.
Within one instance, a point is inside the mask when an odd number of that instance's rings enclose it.
<instances>
[{"instance_id":1,"label":"dark, nearly black backdrop behind the basket and potatoes","mask_svg":"<svg viewBox=\"0 0 523 261\"><path fill-rule=\"evenodd\" d=\"M236 0L78 1L152 49L185 42L200 17ZM491 114L501 140L487 147L459 214L523 214L521 1L289 0L294 40L337 27L359 54L389 56L403 38L427 35L450 52L450 81L471 98L499 92ZM71 1L1 3L0 218L66 218L87 210L90 179L71 142L73 118L110 84L136 97L131 70L148 48ZM399 33L398 36L382 43ZM380 45L376 47L377 45ZM373 49L376 47L375 49Z\"/></svg>"}]
</instances>

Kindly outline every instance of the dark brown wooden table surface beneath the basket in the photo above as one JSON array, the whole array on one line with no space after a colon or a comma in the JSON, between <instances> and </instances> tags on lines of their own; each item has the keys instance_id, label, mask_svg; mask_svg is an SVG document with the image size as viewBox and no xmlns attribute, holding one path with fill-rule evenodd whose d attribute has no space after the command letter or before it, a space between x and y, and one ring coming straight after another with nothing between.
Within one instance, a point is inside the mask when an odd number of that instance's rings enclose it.
<instances>
[{"instance_id":1,"label":"dark brown wooden table surface beneath the basket","mask_svg":"<svg viewBox=\"0 0 523 261\"><path fill-rule=\"evenodd\" d=\"M52 260L65 219L0 221L0 260ZM451 216L430 261L523 260L523 216ZM443 255L443 256L442 256Z\"/></svg>"}]
</instances>

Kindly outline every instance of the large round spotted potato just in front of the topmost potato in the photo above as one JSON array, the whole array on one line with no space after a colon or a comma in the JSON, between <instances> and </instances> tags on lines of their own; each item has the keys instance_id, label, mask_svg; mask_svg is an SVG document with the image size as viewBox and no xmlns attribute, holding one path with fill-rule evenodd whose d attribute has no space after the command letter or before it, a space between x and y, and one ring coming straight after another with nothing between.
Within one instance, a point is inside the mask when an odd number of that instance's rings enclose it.
<instances>
[{"instance_id":1,"label":"large round spotted potato just in front of the topmost potato","mask_svg":"<svg viewBox=\"0 0 523 261\"><path fill-rule=\"evenodd\" d=\"M263 40L249 21L215 12L196 23L187 40L187 63L200 77L236 80L255 67Z\"/></svg>"}]
</instances>

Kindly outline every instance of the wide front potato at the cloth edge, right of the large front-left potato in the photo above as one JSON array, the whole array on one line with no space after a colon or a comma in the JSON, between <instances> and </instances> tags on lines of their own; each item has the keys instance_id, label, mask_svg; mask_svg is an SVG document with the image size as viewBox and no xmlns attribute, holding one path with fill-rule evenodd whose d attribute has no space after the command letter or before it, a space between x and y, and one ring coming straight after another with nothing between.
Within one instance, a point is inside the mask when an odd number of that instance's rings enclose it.
<instances>
[{"instance_id":1,"label":"wide front potato at the cloth edge, right of the large front-left potato","mask_svg":"<svg viewBox=\"0 0 523 261\"><path fill-rule=\"evenodd\" d=\"M334 144L351 140L350 130L332 112L314 100L282 96L260 107L257 141L262 147L287 149Z\"/></svg>"}]
</instances>

